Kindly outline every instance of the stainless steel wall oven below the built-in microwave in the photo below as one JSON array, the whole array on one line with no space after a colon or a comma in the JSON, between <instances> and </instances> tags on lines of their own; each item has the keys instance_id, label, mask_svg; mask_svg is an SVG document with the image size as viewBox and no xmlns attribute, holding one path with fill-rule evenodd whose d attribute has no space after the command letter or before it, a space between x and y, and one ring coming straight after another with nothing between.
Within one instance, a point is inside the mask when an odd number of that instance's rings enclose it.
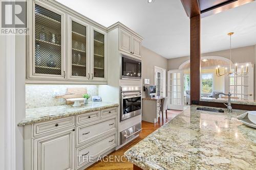
<instances>
[{"instance_id":1,"label":"stainless steel wall oven below the built-in microwave","mask_svg":"<svg viewBox=\"0 0 256 170\"><path fill-rule=\"evenodd\" d=\"M121 87L120 121L141 114L141 86Z\"/></svg>"}]
</instances>

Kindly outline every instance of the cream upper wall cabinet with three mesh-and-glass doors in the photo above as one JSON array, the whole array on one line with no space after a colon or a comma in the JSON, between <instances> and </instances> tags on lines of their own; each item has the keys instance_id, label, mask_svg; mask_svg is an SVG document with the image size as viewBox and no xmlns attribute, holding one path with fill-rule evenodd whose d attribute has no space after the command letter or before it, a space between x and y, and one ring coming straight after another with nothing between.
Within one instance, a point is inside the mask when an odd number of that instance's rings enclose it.
<instances>
[{"instance_id":1,"label":"cream upper wall cabinet with three mesh-and-glass doors","mask_svg":"<svg viewBox=\"0 0 256 170\"><path fill-rule=\"evenodd\" d=\"M55 1L29 1L26 83L107 84L106 28Z\"/></svg>"}]
</instances>

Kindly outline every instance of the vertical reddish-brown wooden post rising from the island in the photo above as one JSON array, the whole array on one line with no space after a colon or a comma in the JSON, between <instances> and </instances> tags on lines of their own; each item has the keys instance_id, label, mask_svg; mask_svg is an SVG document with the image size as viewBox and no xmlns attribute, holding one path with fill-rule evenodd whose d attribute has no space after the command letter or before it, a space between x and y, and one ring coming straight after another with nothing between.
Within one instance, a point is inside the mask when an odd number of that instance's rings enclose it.
<instances>
[{"instance_id":1,"label":"vertical reddish-brown wooden post rising from the island","mask_svg":"<svg viewBox=\"0 0 256 170\"><path fill-rule=\"evenodd\" d=\"M190 103L200 101L201 17L190 17Z\"/></svg>"}]
</instances>

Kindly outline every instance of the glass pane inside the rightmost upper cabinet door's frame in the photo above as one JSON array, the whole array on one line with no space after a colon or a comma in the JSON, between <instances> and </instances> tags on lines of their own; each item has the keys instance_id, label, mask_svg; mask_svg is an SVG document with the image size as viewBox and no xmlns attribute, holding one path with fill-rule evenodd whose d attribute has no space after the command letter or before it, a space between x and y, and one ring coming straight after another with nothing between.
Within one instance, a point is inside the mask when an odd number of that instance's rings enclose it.
<instances>
[{"instance_id":1,"label":"glass pane inside the rightmost upper cabinet door's frame","mask_svg":"<svg viewBox=\"0 0 256 170\"><path fill-rule=\"evenodd\" d=\"M104 34L94 31L94 77L104 78Z\"/></svg>"}]
</instances>

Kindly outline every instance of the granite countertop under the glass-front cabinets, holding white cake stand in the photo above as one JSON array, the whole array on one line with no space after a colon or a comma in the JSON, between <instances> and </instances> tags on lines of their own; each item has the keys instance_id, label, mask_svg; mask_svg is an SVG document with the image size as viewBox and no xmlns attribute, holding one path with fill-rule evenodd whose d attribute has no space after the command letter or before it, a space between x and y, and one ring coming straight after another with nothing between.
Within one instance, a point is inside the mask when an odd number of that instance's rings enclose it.
<instances>
[{"instance_id":1,"label":"granite countertop under the glass-front cabinets, holding white cake stand","mask_svg":"<svg viewBox=\"0 0 256 170\"><path fill-rule=\"evenodd\" d=\"M72 105L49 106L26 109L26 118L18 123L18 126L30 125L38 122L45 122L47 120L73 116L76 114L83 114L97 110L117 107L118 104L95 102L89 103L86 106L73 107Z\"/></svg>"}]
</instances>

